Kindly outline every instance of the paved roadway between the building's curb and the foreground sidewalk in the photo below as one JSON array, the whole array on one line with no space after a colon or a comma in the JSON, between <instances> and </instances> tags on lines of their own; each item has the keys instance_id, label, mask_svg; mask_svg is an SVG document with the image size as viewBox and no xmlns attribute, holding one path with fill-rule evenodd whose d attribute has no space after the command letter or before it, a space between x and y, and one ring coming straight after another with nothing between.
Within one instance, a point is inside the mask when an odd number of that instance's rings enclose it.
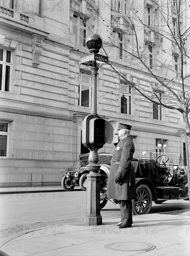
<instances>
[{"instance_id":1,"label":"paved roadway between the building's curb and the foreground sidewalk","mask_svg":"<svg viewBox=\"0 0 190 256\"><path fill-rule=\"evenodd\" d=\"M6 194L0 196L1 245L34 230L52 227L60 232L64 224L83 224L86 191ZM161 205L152 203L150 213L189 209L189 201L169 200ZM101 210L102 222L120 216L119 205L108 201Z\"/></svg>"}]
</instances>

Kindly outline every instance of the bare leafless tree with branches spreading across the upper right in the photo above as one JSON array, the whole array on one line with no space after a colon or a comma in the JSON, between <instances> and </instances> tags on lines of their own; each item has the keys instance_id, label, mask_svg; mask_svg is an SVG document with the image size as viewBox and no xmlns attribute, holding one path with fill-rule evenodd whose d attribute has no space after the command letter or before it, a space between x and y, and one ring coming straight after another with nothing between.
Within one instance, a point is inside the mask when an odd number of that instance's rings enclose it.
<instances>
[{"instance_id":1,"label":"bare leafless tree with branches spreading across the upper right","mask_svg":"<svg viewBox=\"0 0 190 256\"><path fill-rule=\"evenodd\" d=\"M139 2L143 2L144 8L138 5ZM168 108L183 115L190 181L190 7L185 0L147 2L145 6L144 1L115 0L112 8L117 9L122 21L125 22L125 40L129 43L127 47L123 47L123 35L119 29L118 39L115 40L115 35L110 37L104 52L108 56L110 48L118 49L118 58L122 59L122 64L126 65L126 68L135 64L139 70L147 74L147 79L151 80L151 88L140 85L138 81L132 81L130 76L121 72L121 68L114 61L110 61L112 72L114 71L137 94L152 102L155 108ZM122 3L128 3L125 9ZM100 14L99 18L107 27L113 27L103 15ZM153 48L156 54L152 53Z\"/></svg>"}]
</instances>

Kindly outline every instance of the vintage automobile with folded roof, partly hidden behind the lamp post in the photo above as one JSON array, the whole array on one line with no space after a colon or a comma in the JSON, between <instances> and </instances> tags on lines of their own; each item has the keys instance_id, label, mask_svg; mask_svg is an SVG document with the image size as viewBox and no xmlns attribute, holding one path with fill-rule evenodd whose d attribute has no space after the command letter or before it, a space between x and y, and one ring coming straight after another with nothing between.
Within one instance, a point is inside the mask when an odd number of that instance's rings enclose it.
<instances>
[{"instance_id":1,"label":"vintage automobile with folded roof, partly hidden behind the lamp post","mask_svg":"<svg viewBox=\"0 0 190 256\"><path fill-rule=\"evenodd\" d=\"M105 183L105 179L108 179L108 173L110 168L110 161L112 158L112 154L109 153L99 153L99 164L101 168L99 170L99 174L101 175L101 181ZM89 170L86 168L89 160L89 153L79 155L79 158L71 172L66 172L61 181L62 188L65 191L72 191L75 186L80 186L80 188L86 191L86 186L84 182L86 180L86 176L89 174ZM102 183L101 182L101 183Z\"/></svg>"}]
</instances>

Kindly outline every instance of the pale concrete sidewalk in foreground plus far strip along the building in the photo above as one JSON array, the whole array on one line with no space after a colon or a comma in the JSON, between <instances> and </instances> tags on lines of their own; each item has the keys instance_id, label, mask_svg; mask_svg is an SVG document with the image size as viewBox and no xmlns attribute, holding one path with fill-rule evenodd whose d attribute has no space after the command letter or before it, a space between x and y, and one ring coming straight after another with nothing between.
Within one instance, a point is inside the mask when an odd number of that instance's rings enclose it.
<instances>
[{"instance_id":1,"label":"pale concrete sidewalk in foreground plus far strip along the building","mask_svg":"<svg viewBox=\"0 0 190 256\"><path fill-rule=\"evenodd\" d=\"M1 188L0 193L61 190L61 187ZM24 192L25 191L25 192ZM18 227L17 237L2 244L9 256L131 256L190 255L190 216L147 214L133 216L133 226L119 229L120 218L102 219L102 225L84 223ZM24 225L23 225L24 226ZM0 255L1 255L0 253ZM3 254L2 254L3 255Z\"/></svg>"}]
</instances>

